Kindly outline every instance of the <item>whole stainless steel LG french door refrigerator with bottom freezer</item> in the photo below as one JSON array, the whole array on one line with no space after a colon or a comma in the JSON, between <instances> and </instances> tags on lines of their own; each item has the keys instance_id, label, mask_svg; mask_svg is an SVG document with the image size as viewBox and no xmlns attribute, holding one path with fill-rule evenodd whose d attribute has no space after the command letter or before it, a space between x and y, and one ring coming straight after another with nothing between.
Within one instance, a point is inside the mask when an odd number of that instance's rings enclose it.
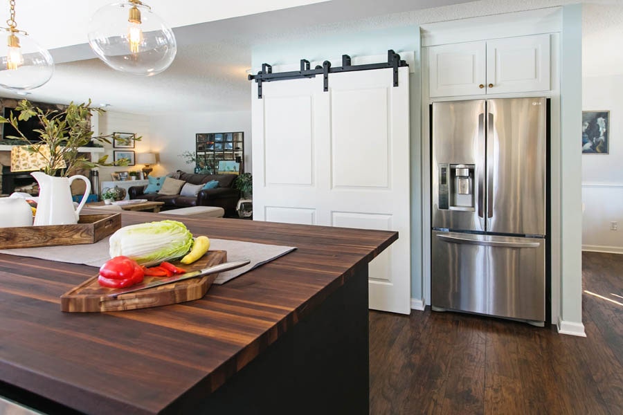
<instances>
[{"instance_id":1,"label":"whole stainless steel LG french door refrigerator with bottom freezer","mask_svg":"<svg viewBox=\"0 0 623 415\"><path fill-rule=\"evenodd\" d=\"M431 304L545 321L548 102L435 102Z\"/></svg>"}]
</instances>

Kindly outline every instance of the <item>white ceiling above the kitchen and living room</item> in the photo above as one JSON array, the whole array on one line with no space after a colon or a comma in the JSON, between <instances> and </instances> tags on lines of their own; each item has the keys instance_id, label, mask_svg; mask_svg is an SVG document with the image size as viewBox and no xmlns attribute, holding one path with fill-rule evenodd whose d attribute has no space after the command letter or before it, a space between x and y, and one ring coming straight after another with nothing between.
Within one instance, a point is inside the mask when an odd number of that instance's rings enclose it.
<instances>
[{"instance_id":1,"label":"white ceiling above the kitchen and living room","mask_svg":"<svg viewBox=\"0 0 623 415\"><path fill-rule=\"evenodd\" d=\"M86 44L90 16L111 1L17 1L18 27L28 30L33 39L50 48L56 63L52 80L30 91L29 100L67 103L91 99L96 105L108 104L109 111L150 115L170 113L172 108L249 111L246 71L251 68L254 46L577 3L577 0L229 0L211 8L213 1L147 0L152 10L174 28L178 50L173 64L163 73L137 77L113 71L94 58ZM585 13L584 26L588 19L591 42L600 47L591 50L603 52L601 48L607 45L600 33L623 30L623 5L620 0L584 3L590 3L585 10L595 16L590 20ZM8 10L0 10L0 19L6 17ZM599 62L603 62L603 57L599 55ZM623 67L623 62L618 67ZM19 98L10 91L0 94Z\"/></svg>"}]
</instances>

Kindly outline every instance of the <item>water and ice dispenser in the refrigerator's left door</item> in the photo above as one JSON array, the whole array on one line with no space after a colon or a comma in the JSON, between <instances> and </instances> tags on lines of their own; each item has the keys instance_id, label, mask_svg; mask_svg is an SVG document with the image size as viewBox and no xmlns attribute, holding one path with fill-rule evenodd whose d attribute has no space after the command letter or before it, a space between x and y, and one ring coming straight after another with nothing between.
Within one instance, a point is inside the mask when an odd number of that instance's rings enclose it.
<instances>
[{"instance_id":1,"label":"water and ice dispenser in the refrigerator's left door","mask_svg":"<svg viewBox=\"0 0 623 415\"><path fill-rule=\"evenodd\" d=\"M475 165L439 165L439 208L449 210L474 210L473 192Z\"/></svg>"}]
</instances>

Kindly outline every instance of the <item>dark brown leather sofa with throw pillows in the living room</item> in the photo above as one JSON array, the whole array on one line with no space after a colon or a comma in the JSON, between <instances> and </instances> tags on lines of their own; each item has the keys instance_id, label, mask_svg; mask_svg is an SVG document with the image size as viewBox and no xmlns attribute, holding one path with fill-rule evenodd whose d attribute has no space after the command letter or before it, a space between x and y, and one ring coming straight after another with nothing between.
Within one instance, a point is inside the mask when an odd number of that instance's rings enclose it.
<instances>
[{"instance_id":1,"label":"dark brown leather sofa with throw pillows in the living room","mask_svg":"<svg viewBox=\"0 0 623 415\"><path fill-rule=\"evenodd\" d=\"M159 192L145 193L149 185L133 186L128 189L129 199L147 199L148 201L164 202L162 210L188 208L190 206L217 206L225 210L225 216L236 216L236 205L240 199L240 190L235 189L233 184L237 175L192 174L178 170L168 176L178 181L183 181L184 184L190 183L190 185L205 185L210 181L217 181L218 187L199 190L197 196L182 196L181 194L160 194ZM152 179L157 181L159 178ZM161 179L164 180L165 176ZM180 191L183 192L183 186Z\"/></svg>"}]
</instances>

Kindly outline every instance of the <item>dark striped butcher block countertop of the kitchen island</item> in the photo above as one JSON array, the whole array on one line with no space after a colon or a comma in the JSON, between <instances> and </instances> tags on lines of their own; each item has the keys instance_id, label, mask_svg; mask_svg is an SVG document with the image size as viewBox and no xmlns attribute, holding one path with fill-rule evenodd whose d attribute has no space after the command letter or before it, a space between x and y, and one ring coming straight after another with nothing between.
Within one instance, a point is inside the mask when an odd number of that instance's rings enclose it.
<instances>
[{"instance_id":1,"label":"dark striped butcher block countertop of the kitchen island","mask_svg":"<svg viewBox=\"0 0 623 415\"><path fill-rule=\"evenodd\" d=\"M123 212L122 219L130 225L170 218ZM51 413L199 413L188 408L204 405L262 353L277 356L274 344L351 280L366 280L357 294L365 306L367 264L397 239L397 232L376 230L181 221L195 235L298 249L212 286L202 299L111 313L60 311L60 296L95 268L0 255L0 395ZM367 309L365 329L364 317L356 318L367 336Z\"/></svg>"}]
</instances>

